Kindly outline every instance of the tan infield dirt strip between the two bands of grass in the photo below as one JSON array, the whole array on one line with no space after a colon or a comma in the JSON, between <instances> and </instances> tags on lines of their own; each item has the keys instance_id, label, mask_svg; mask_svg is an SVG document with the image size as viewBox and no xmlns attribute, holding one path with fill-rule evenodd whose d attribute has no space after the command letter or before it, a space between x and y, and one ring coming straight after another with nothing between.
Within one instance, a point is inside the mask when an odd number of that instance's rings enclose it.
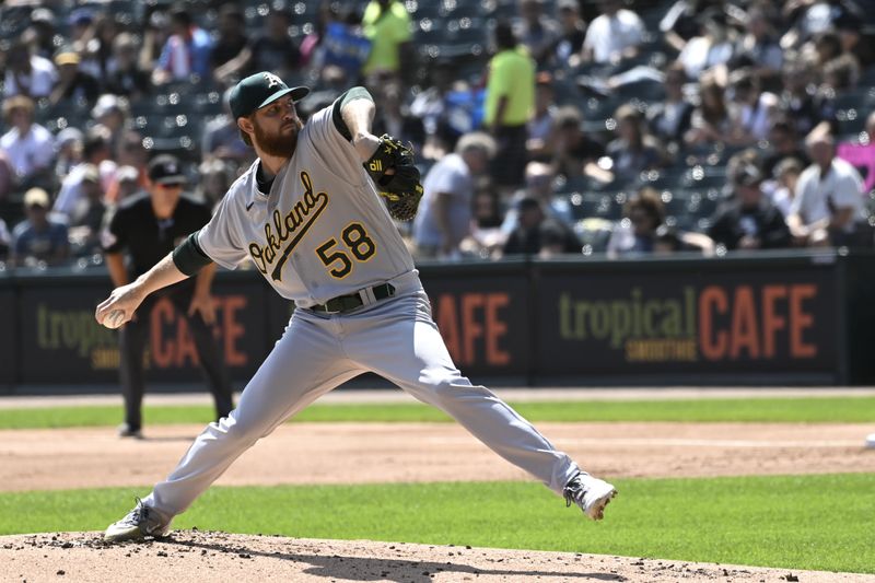
<instances>
[{"instance_id":1,"label":"tan infield dirt strip between the two bands of grass","mask_svg":"<svg viewBox=\"0 0 875 583\"><path fill-rule=\"evenodd\" d=\"M0 490L149 486L202 425L0 431ZM875 471L863 424L538 423L558 447L609 477ZM351 471L338 475L342 465ZM280 427L217 483L421 482L528 479L454 423L293 423Z\"/></svg>"}]
</instances>

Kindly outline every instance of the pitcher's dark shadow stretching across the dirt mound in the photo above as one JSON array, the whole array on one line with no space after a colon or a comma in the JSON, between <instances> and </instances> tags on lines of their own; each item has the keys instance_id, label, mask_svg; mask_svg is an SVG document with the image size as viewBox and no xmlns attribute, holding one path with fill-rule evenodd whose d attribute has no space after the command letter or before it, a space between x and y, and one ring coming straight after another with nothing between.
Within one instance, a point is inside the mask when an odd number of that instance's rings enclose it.
<instances>
[{"instance_id":1,"label":"pitcher's dark shadow stretching across the dirt mound","mask_svg":"<svg viewBox=\"0 0 875 583\"><path fill-rule=\"evenodd\" d=\"M466 573L470 575L505 575L515 581L530 581L535 578L558 578L563 580L580 579L595 581L627 581L622 575L614 573L574 573L540 570L478 569L469 564L446 561L416 561L402 559L376 559L364 557L343 557L332 555L306 555L296 552L262 552L249 549L245 545L200 543L196 540L174 539L173 535L162 538L161 543L182 547L199 548L217 552L235 555L244 558L269 557L282 561L307 563L312 567L303 572L314 576L347 581L397 581L405 583L431 583L431 575L438 573ZM517 579L518 578L518 579Z\"/></svg>"}]
</instances>

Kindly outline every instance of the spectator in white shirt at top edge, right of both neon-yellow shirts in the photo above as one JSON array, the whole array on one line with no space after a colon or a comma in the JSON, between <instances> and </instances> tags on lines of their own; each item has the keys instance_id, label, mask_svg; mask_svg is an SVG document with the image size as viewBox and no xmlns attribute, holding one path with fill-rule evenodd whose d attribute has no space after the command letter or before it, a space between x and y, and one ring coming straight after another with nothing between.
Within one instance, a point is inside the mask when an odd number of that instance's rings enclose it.
<instances>
[{"instance_id":1,"label":"spectator in white shirt at top edge, right of both neon-yellow shirts","mask_svg":"<svg viewBox=\"0 0 875 583\"><path fill-rule=\"evenodd\" d=\"M622 8L621 0L602 0L583 40L583 61L617 63L634 57L644 39L644 23L638 14Z\"/></svg>"}]
</instances>

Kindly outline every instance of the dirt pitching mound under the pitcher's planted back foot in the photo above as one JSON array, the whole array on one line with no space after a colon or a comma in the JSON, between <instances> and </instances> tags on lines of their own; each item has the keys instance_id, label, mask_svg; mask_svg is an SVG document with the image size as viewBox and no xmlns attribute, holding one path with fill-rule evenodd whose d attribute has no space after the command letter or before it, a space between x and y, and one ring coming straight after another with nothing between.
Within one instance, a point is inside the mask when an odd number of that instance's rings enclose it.
<instances>
[{"instance_id":1,"label":"dirt pitching mound under the pitcher's planted back foot","mask_svg":"<svg viewBox=\"0 0 875 583\"><path fill-rule=\"evenodd\" d=\"M0 537L5 581L872 581L866 575L599 555L177 530L106 545L100 533Z\"/></svg>"}]
</instances>

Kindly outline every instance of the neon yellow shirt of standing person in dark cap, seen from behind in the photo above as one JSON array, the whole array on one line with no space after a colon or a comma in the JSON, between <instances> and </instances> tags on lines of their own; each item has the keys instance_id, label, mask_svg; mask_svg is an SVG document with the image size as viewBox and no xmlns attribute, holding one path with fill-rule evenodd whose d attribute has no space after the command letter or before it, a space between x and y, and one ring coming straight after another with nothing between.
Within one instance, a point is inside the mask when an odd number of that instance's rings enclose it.
<instances>
[{"instance_id":1,"label":"neon yellow shirt of standing person in dark cap, seen from behind","mask_svg":"<svg viewBox=\"0 0 875 583\"><path fill-rule=\"evenodd\" d=\"M521 126L535 109L535 61L523 46L495 54L489 61L486 88L486 124L495 120L499 100L508 97L502 126Z\"/></svg>"}]
</instances>

